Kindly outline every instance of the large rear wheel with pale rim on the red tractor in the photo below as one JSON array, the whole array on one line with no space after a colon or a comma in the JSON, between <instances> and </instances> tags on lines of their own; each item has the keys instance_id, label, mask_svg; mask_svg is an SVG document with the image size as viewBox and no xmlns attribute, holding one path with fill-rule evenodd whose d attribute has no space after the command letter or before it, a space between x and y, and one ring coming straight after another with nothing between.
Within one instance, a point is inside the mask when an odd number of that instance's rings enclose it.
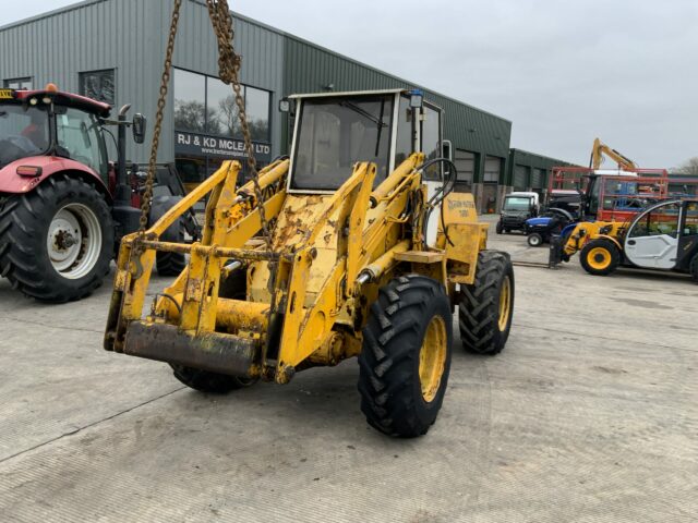
<instances>
[{"instance_id":1,"label":"large rear wheel with pale rim on the red tractor","mask_svg":"<svg viewBox=\"0 0 698 523\"><path fill-rule=\"evenodd\" d=\"M0 276L45 302L80 300L109 272L113 222L89 183L53 175L0 205Z\"/></svg>"}]
</instances>

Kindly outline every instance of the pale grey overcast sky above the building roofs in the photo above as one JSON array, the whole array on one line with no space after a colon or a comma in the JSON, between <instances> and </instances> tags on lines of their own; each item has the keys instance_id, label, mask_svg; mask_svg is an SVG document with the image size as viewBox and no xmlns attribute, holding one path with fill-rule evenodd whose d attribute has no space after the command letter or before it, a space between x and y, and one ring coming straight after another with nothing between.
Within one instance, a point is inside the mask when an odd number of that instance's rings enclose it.
<instances>
[{"instance_id":1,"label":"pale grey overcast sky above the building roofs","mask_svg":"<svg viewBox=\"0 0 698 523\"><path fill-rule=\"evenodd\" d=\"M23 0L0 25L70 3ZM229 4L510 120L512 147L586 165L599 136L641 167L698 156L698 0Z\"/></svg>"}]
</instances>

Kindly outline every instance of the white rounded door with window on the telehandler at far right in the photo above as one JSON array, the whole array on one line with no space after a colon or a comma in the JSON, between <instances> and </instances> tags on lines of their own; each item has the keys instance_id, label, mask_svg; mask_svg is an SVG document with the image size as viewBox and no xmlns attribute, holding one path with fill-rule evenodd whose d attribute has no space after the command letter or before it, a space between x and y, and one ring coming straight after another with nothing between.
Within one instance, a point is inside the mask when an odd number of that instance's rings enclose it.
<instances>
[{"instance_id":1,"label":"white rounded door with window on the telehandler at far right","mask_svg":"<svg viewBox=\"0 0 698 523\"><path fill-rule=\"evenodd\" d=\"M625 236L625 256L649 269L673 269L678 252L681 202L665 202L639 215Z\"/></svg>"}]
</instances>

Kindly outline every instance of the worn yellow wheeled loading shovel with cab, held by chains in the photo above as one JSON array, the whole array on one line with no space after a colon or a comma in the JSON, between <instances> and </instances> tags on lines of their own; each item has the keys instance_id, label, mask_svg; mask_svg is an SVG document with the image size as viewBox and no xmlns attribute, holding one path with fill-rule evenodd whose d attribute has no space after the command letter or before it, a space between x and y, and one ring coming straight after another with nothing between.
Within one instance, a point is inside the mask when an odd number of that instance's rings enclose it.
<instances>
[{"instance_id":1,"label":"worn yellow wheeled loading shovel with cab, held by chains","mask_svg":"<svg viewBox=\"0 0 698 523\"><path fill-rule=\"evenodd\" d=\"M441 153L442 113L421 94L290 101L290 159L260 171L260 192L236 191L240 166L224 162L144 235L124 239L105 348L168 362L182 382L216 392L358 356L369 423L425 434L448 379L456 305L466 350L504 348L509 257L484 250L472 195L450 192L453 163L425 160L421 150ZM157 240L207 193L201 242ZM142 317L156 252L186 253L189 265Z\"/></svg>"}]
</instances>

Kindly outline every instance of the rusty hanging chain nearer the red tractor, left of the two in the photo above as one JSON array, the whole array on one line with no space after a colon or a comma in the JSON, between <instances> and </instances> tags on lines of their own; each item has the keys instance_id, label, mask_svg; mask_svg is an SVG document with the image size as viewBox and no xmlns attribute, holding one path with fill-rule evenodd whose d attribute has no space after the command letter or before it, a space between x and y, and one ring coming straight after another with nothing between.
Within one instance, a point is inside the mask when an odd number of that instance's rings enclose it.
<instances>
[{"instance_id":1,"label":"rusty hanging chain nearer the red tractor, left of the two","mask_svg":"<svg viewBox=\"0 0 698 523\"><path fill-rule=\"evenodd\" d=\"M151 145L151 158L148 159L148 175L145 181L145 191L141 202L141 223L139 233L145 234L148 226L148 215L151 214L151 203L153 200L153 184L155 183L155 170L157 165L157 149L160 145L160 132L163 131L163 115L167 104L167 88L170 84L170 72L172 70L172 54L174 53L174 38L177 37L177 26L179 24L179 11L182 0L174 0L172 8L172 19L170 21L170 33L167 39L167 51L165 53L165 66L160 81L160 92L157 99L157 112L155 113L155 126L153 129L153 143Z\"/></svg>"}]
</instances>

